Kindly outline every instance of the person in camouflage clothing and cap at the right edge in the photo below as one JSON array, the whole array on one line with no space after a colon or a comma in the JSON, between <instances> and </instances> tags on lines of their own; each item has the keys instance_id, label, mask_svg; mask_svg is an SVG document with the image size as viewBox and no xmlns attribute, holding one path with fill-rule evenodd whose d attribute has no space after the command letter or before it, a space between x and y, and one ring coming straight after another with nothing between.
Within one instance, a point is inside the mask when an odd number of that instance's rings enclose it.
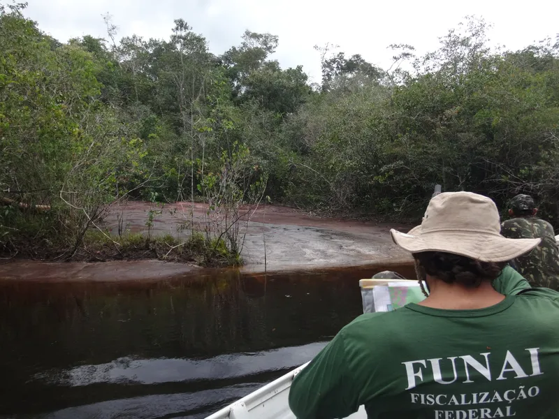
<instances>
[{"instance_id":1,"label":"person in camouflage clothing and cap at the right edge","mask_svg":"<svg viewBox=\"0 0 559 419\"><path fill-rule=\"evenodd\" d=\"M511 265L531 286L559 291L559 248L553 227L537 218L537 207L529 195L512 198L509 215L513 218L501 224L501 234L509 239L540 238L542 242L530 253L511 261Z\"/></svg>"}]
</instances>

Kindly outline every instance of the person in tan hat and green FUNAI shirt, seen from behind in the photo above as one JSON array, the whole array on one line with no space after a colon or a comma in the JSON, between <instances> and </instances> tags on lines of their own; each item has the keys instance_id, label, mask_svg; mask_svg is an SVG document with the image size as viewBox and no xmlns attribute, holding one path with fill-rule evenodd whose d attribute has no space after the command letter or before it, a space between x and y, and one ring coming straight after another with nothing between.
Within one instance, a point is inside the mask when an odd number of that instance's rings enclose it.
<instances>
[{"instance_id":1,"label":"person in tan hat and green FUNAI shirt, seen from behind","mask_svg":"<svg viewBox=\"0 0 559 419\"><path fill-rule=\"evenodd\" d=\"M495 203L469 192L435 196L421 226L391 235L426 299L345 326L294 378L295 416L559 418L559 293L503 269L539 239L502 237Z\"/></svg>"}]
</instances>

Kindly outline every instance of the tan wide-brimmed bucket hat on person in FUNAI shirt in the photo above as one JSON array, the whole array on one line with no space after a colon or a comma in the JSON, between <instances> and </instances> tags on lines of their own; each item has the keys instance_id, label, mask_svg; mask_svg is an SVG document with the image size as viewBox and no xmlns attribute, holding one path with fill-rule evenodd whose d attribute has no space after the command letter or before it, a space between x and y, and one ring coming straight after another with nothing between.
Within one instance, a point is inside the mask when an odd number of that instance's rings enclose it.
<instances>
[{"instance_id":1,"label":"tan wide-brimmed bucket hat on person in FUNAI shirt","mask_svg":"<svg viewBox=\"0 0 559 419\"><path fill-rule=\"evenodd\" d=\"M445 192L431 199L421 226L400 233L395 244L412 253L444 251L484 262L504 262L534 249L541 239L507 239L500 235L497 206L471 192Z\"/></svg>"}]
</instances>

